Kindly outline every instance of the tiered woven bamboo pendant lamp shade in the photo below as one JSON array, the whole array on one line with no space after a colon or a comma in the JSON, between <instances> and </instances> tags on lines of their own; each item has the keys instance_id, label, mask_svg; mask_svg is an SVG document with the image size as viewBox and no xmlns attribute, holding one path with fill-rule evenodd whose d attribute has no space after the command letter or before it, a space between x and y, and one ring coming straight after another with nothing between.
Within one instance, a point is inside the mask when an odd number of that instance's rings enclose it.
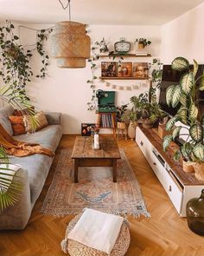
<instances>
[{"instance_id":1,"label":"tiered woven bamboo pendant lamp shade","mask_svg":"<svg viewBox=\"0 0 204 256\"><path fill-rule=\"evenodd\" d=\"M85 68L90 57L90 37L82 23L60 22L52 36L52 55L59 68Z\"/></svg>"}]
</instances>

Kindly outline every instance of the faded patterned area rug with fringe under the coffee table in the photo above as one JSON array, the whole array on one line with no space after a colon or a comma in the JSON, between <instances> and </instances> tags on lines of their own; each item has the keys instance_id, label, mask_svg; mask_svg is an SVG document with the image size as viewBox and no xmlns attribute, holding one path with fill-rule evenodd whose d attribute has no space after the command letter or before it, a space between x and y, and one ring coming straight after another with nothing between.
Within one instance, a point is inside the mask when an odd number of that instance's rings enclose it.
<instances>
[{"instance_id":1,"label":"faded patterned area rug with fringe under the coffee table","mask_svg":"<svg viewBox=\"0 0 204 256\"><path fill-rule=\"evenodd\" d=\"M73 183L72 151L62 149L41 213L63 216L89 207L105 213L150 217L131 165L124 151L120 153L116 183L112 182L111 167L80 167L79 183Z\"/></svg>"}]
</instances>

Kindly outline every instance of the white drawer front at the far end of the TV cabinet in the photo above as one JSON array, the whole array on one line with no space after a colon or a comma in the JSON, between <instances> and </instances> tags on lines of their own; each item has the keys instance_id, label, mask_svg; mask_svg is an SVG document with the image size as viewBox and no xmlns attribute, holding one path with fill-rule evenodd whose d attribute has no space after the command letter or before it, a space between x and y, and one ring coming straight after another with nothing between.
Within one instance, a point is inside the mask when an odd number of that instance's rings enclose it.
<instances>
[{"instance_id":1,"label":"white drawer front at the far end of the TV cabinet","mask_svg":"<svg viewBox=\"0 0 204 256\"><path fill-rule=\"evenodd\" d=\"M136 142L137 142L138 147L143 152L147 161L149 161L150 151L151 151L151 143L147 139L147 137L145 135L143 135L143 132L138 127L136 129Z\"/></svg>"}]
</instances>

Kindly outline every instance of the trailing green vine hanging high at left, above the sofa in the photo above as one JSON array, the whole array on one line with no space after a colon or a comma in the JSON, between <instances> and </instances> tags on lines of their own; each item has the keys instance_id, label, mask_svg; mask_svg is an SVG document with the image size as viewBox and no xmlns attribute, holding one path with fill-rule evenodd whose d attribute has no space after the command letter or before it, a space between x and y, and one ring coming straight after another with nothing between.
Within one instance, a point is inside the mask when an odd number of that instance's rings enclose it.
<instances>
[{"instance_id":1,"label":"trailing green vine hanging high at left, above the sofa","mask_svg":"<svg viewBox=\"0 0 204 256\"><path fill-rule=\"evenodd\" d=\"M0 75L3 77L3 82L13 89L18 89L25 94L25 86L31 82L34 75L29 64L30 58L33 56L35 50L41 56L42 68L37 77L44 78L47 73L48 54L43 49L43 43L48 39L48 34L53 29L36 30L37 40L33 49L24 49L20 43L19 36L15 34L15 26L10 21L6 21L5 26L0 27Z\"/></svg>"}]
</instances>

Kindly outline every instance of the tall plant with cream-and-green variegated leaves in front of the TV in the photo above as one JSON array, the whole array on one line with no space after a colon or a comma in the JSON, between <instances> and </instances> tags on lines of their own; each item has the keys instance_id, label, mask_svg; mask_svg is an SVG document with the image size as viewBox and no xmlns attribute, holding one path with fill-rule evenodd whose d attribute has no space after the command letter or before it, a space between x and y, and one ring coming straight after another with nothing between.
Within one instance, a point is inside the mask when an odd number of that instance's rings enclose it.
<instances>
[{"instance_id":1,"label":"tall plant with cream-and-green variegated leaves in front of the TV","mask_svg":"<svg viewBox=\"0 0 204 256\"><path fill-rule=\"evenodd\" d=\"M167 122L166 129L171 134L164 137L163 150L166 151L169 143L175 141L178 135L186 135L187 139L175 152L174 160L182 158L188 161L188 165L194 167L195 177L204 180L204 115L200 115L198 108L199 101L204 99L197 99L198 92L204 90L204 75L198 77L198 63L195 60L191 68L183 57L176 57L171 67L183 72L183 75L179 84L167 89L167 103L179 109ZM180 125L175 126L177 121L180 121Z\"/></svg>"}]
</instances>

